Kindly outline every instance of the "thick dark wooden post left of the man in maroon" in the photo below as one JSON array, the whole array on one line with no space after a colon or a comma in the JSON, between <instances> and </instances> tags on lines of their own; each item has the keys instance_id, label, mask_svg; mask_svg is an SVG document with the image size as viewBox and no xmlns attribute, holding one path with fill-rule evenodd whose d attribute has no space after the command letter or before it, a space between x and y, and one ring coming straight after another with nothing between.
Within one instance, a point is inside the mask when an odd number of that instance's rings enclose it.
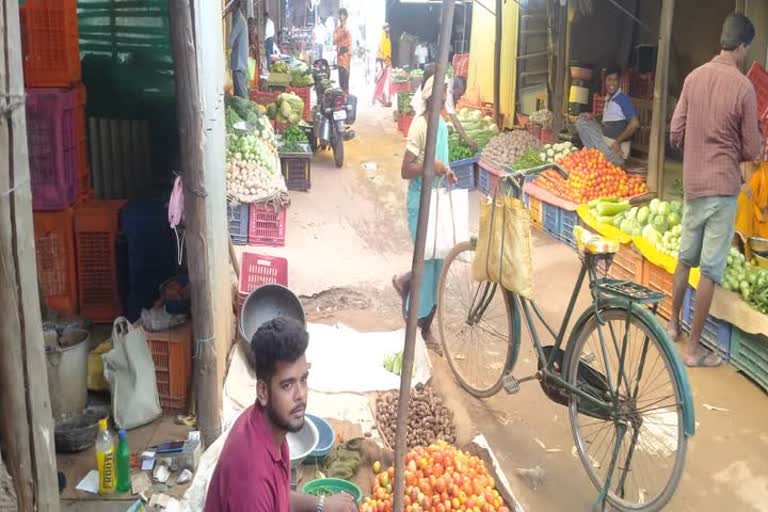
<instances>
[{"instance_id":1,"label":"thick dark wooden post left of the man in maroon","mask_svg":"<svg viewBox=\"0 0 768 512\"><path fill-rule=\"evenodd\" d=\"M181 167L184 180L187 262L195 343L194 386L197 422L210 446L221 433L219 372L214 337L212 287L208 252L208 208L203 168L203 117L197 57L189 0L169 0L171 42L176 78ZM223 143L223 141L222 141Z\"/></svg>"}]
</instances>

